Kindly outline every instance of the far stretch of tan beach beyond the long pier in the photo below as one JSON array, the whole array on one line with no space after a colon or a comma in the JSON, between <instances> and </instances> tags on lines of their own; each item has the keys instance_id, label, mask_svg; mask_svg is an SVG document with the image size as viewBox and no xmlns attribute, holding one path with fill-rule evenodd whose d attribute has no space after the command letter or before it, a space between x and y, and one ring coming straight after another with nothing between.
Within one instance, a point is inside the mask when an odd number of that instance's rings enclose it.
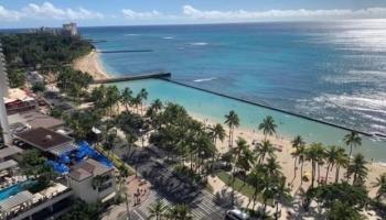
<instances>
[{"instance_id":1,"label":"far stretch of tan beach beyond the long pier","mask_svg":"<svg viewBox=\"0 0 386 220\"><path fill-rule=\"evenodd\" d=\"M109 74L104 68L98 52L93 50L86 56L76 59L73 67L77 70L88 73L94 79L109 78Z\"/></svg>"}]
</instances>

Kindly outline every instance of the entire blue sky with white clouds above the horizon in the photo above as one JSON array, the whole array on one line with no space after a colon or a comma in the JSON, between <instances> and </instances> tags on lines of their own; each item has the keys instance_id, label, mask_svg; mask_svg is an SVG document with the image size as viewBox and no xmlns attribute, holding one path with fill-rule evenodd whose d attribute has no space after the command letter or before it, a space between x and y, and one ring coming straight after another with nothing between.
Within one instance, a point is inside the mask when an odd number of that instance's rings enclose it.
<instances>
[{"instance_id":1,"label":"entire blue sky with white clouds above the horizon","mask_svg":"<svg viewBox=\"0 0 386 220\"><path fill-rule=\"evenodd\" d=\"M386 0L0 0L0 29L386 19Z\"/></svg>"}]
</instances>

